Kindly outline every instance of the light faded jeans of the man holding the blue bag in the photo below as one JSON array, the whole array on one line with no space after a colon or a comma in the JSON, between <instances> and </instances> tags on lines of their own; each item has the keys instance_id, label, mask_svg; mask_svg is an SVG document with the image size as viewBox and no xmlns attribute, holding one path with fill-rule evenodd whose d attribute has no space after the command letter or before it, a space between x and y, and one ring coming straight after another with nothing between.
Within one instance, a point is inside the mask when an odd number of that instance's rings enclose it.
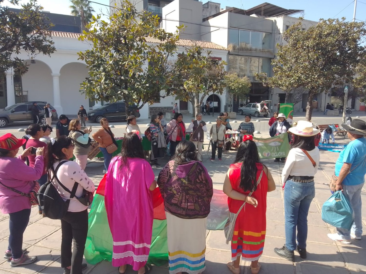
<instances>
[{"instance_id":1,"label":"light faded jeans of the man holding the blue bag","mask_svg":"<svg viewBox=\"0 0 366 274\"><path fill-rule=\"evenodd\" d=\"M342 238L344 240L350 240L351 233L355 234L357 237L361 237L362 235L361 190L363 187L363 183L356 184L355 186L346 186L342 184L342 187L344 196L346 196L348 201L351 203L354 214L354 222L351 230L337 227L337 231L339 235L342 235Z\"/></svg>"}]
</instances>

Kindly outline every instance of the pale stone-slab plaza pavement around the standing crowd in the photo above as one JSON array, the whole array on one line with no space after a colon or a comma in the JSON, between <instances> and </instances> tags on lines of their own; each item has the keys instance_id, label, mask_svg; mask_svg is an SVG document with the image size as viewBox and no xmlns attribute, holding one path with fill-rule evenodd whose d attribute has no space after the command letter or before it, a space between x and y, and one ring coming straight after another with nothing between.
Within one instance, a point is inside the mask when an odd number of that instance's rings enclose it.
<instances>
[{"instance_id":1,"label":"pale stone-slab plaza pavement around the standing crowd","mask_svg":"<svg viewBox=\"0 0 366 274\"><path fill-rule=\"evenodd\" d=\"M361 114L362 115L362 114ZM205 119L206 118L206 119ZM203 117L208 121L208 117ZM238 122L242 121L244 117L238 117ZM255 128L259 129L262 134L261 137L269 137L268 135L268 118L259 118L261 122L255 122ZM295 117L299 120L301 117ZM362 117L365 119L365 117ZM185 119L186 120L186 119ZM252 121L255 121L253 118ZM322 123L340 123L340 117L314 117L315 122ZM186 120L187 121L187 120ZM214 119L211 119L214 121ZM141 122L141 123L140 123ZM139 122L142 131L146 126ZM146 121L143 121L146 122ZM112 129L116 136L123 136L125 125L117 125L113 123L115 128ZM187 123L188 125L188 123ZM235 123L232 127L235 128ZM93 128L96 124L93 124ZM211 125L208 125L210 129ZM145 128L144 128L145 127ZM17 132L16 128L5 128L0 130L0 135L6 132L12 132L17 137L22 137L24 132ZM121 135L120 135L121 134ZM347 144L348 139L336 137L336 142L340 144ZM208 142L205 142L205 150L208 147ZM208 169L210 176L213 179L214 188L222 189L225 174L228 170L229 164L234 161L236 155L235 150L223 153L223 161L210 161L210 151L203 155L203 164ZM268 193L267 197L267 232L263 256L260 259L262 269L260 273L283 274L283 273L332 273L332 274L352 274L352 273L366 273L366 237L362 240L353 240L352 244L335 243L328 239L327 233L333 233L335 229L325 224L321 220L322 204L329 198L330 192L328 189L329 178L334 171L334 163L338 157L336 152L321 151L321 162L318 173L315 175L315 198L310 206L309 212L309 233L307 246L307 259L302 260L295 253L295 262L289 262L282 259L273 252L273 248L283 246L285 242L284 229L284 206L283 206L283 191L281 189L280 175L283 163L275 163L273 160L264 160L264 163L269 167L273 177L276 181L277 189ZM168 159L160 160L161 164ZM101 159L89 161L86 172L94 184L97 186L102 178L103 162ZM154 173L157 176L161 168L155 168ZM362 191L363 201L363 225L366 226L366 189ZM255 221L255 220L248 220ZM101 232L102 233L102 232ZM364 233L365 234L365 233ZM8 241L8 215L0 214L0 250L6 250ZM36 207L32 209L29 225L24 233L23 247L28 248L30 255L38 256L36 264L27 265L25 267L11 268L9 263L4 259L0 262L0 274L3 273L45 273L57 274L63 273L60 267L60 246L61 246L61 228L59 220L51 220L49 218L42 218L38 215ZM225 244L225 237L223 231L207 231L206 237L206 270L207 274L230 274L226 263L231 259L230 246ZM116 267L112 267L110 262L101 262L98 265L88 265L86 274L107 274L118 273ZM127 273L136 273L132 269L128 269ZM161 267L154 267L152 274L168 274L167 265ZM242 262L241 273L250 273L249 263Z\"/></svg>"}]
</instances>

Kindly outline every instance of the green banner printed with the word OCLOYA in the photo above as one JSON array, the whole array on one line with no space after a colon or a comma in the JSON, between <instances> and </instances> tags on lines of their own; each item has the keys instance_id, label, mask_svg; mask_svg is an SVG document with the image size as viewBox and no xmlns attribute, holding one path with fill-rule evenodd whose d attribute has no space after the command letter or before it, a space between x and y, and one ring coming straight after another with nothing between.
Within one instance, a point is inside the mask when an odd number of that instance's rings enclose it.
<instances>
[{"instance_id":1,"label":"green banner printed with the word OCLOYA","mask_svg":"<svg viewBox=\"0 0 366 274\"><path fill-rule=\"evenodd\" d=\"M261 159L287 157L290 151L287 132L270 138L253 137L253 141L257 145L258 154Z\"/></svg>"}]
</instances>

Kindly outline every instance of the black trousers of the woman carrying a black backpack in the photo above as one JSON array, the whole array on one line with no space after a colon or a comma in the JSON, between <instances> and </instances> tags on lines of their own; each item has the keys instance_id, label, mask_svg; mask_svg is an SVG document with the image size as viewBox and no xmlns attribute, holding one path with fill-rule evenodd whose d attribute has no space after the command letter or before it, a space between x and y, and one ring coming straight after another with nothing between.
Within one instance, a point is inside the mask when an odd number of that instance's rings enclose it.
<instances>
[{"instance_id":1,"label":"black trousers of the woman carrying a black backpack","mask_svg":"<svg viewBox=\"0 0 366 274\"><path fill-rule=\"evenodd\" d=\"M81 264L88 233L87 209L80 212L68 211L61 219L61 267L71 266L72 274L82 274ZM71 251L72 240L74 248Z\"/></svg>"}]
</instances>

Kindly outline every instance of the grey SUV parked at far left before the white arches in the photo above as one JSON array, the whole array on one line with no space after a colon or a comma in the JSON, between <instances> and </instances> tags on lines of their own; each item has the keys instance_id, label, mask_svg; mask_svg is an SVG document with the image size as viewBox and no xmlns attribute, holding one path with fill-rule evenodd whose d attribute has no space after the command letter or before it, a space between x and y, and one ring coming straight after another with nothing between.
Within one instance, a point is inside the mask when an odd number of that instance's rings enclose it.
<instances>
[{"instance_id":1,"label":"grey SUV parked at far left before the white arches","mask_svg":"<svg viewBox=\"0 0 366 274\"><path fill-rule=\"evenodd\" d=\"M44 124L47 123L46 118L44 117L44 106L47 102L33 101L13 104L10 107L0 110L0 128L4 128L8 123L32 123L33 116L31 107L33 103L37 103L37 108L40 110L40 122ZM57 111L51 105L50 109L52 111L52 120L57 121Z\"/></svg>"}]
</instances>

